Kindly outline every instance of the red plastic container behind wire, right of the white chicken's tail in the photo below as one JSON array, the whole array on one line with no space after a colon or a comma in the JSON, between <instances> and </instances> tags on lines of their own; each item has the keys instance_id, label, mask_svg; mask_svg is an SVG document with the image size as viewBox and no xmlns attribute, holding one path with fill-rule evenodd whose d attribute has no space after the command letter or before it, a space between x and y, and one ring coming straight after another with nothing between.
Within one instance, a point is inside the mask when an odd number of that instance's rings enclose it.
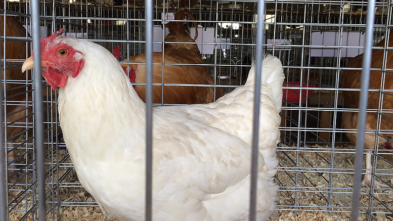
<instances>
[{"instance_id":1,"label":"red plastic container behind wire, right of the white chicken's tail","mask_svg":"<svg viewBox=\"0 0 393 221\"><path fill-rule=\"evenodd\" d=\"M297 81L287 81L282 84L288 87L300 87L300 82ZM313 84L302 83L303 87L315 87ZM283 89L282 99L290 102L299 102L300 89ZM305 103L310 97L312 89L301 89L301 103Z\"/></svg>"}]
</instances>

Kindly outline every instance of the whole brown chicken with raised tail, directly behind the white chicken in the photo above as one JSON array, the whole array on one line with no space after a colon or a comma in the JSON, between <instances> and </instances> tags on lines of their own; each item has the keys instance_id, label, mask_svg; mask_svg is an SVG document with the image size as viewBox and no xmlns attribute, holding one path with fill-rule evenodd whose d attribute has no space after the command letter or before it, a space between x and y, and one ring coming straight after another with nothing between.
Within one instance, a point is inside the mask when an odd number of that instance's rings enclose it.
<instances>
[{"instance_id":1,"label":"whole brown chicken with raised tail, directly behind the white chicken","mask_svg":"<svg viewBox=\"0 0 393 221\"><path fill-rule=\"evenodd\" d=\"M189 17L192 20L194 16L187 9L180 10L176 16L176 20L184 20ZM169 34L164 41L171 42L195 42L198 36L197 26L194 22L196 34L194 39L190 37L190 30L184 22L169 22L165 26L169 30ZM164 69L162 73L162 65L153 65L153 83L162 83L162 75L164 76L164 83L177 84L210 84L214 85L214 80L211 79L203 65L200 51L196 44L187 43L165 43L163 53L153 53L153 63L162 63L164 57ZM145 63L146 55L141 54L134 57L124 59L122 62L136 62ZM168 64L199 64L199 65L168 65ZM121 64L127 67L127 64ZM128 71L130 80L136 83L146 82L146 65L144 64L130 64ZM127 71L126 71L127 72ZM134 78L134 79L133 79ZM139 97L145 101L145 85L135 85ZM214 96L215 94L215 96ZM163 87L163 101L162 86L153 86L153 103L160 104L200 104L211 103L214 99L221 97L219 88L207 86L171 86Z\"/></svg>"}]
</instances>

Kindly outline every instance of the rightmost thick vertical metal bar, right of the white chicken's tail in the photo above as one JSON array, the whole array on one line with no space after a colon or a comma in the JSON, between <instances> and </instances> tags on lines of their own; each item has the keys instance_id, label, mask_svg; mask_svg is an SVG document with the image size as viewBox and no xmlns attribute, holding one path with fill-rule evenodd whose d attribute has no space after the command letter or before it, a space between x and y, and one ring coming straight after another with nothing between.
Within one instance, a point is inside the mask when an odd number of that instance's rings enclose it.
<instances>
[{"instance_id":1,"label":"rightmost thick vertical metal bar, right of the white chicken's tail","mask_svg":"<svg viewBox=\"0 0 393 221\"><path fill-rule=\"evenodd\" d=\"M364 149L364 134L366 127L367 98L370 82L371 54L373 46L373 29L375 16L375 0L368 2L366 20L366 39L363 54L362 83L359 98L358 136L356 140L354 192L352 201L351 220L358 220L360 185L362 180L362 160Z\"/></svg>"}]
</instances>

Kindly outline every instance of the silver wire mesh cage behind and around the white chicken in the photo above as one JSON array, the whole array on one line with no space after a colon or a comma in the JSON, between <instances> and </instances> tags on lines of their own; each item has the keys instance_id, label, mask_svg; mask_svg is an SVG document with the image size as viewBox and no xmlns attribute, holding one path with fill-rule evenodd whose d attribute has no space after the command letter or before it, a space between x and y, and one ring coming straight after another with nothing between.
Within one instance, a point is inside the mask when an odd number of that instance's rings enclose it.
<instances>
[{"instance_id":1,"label":"silver wire mesh cage behind and around the white chicken","mask_svg":"<svg viewBox=\"0 0 393 221\"><path fill-rule=\"evenodd\" d=\"M109 51L120 46L120 61L145 53L144 1L48 0L39 4L43 37L64 28L67 36L89 39ZM196 42L215 90L225 94L244 84L255 56L256 1L157 0L153 4L155 52L161 52L166 43L164 24L173 19L179 8L186 7L195 18L187 21L190 35L197 28ZM392 96L385 78L393 71L387 55L393 42L389 38L393 1L377 1L374 12L367 12L367 4L367 1L266 1L264 53L281 60L286 77L275 177L279 185L277 212L270 220L350 220L356 146L345 134L356 134L356 129L344 128L341 122L344 113L359 112L359 108L347 107L343 93L360 91L360 87L348 89L341 82L343 72L360 69L346 65L365 51L367 13L375 15L373 45L381 42L373 50L384 54L380 64L372 66L381 77L378 85L369 90L372 92L369 100L377 101L378 105L367 109L377 117L373 122L367 121L376 126L366 128L366 134L374 136L374 146L371 152L365 150L364 156L371 155L372 179L386 187L371 185L361 189L359 217L393 220L393 154L383 152L388 149L388 142L382 145L380 142L384 139L391 142L391 128L386 129L383 124L386 118L391 118L392 110L383 102ZM42 90L44 104L47 219L114 220L104 218L95 199L78 181L62 140L57 92L45 81L42 88L34 88L32 72L20 72L32 49L30 3L9 0L4 6L0 16L2 26L6 25L1 35L5 85L2 136L6 141L3 152L7 155L9 220L37 220L34 148L37 131L33 121L36 90ZM8 22L14 23L7 25ZM161 82L159 86L171 85ZM162 99L154 105L169 104Z\"/></svg>"}]
</instances>

